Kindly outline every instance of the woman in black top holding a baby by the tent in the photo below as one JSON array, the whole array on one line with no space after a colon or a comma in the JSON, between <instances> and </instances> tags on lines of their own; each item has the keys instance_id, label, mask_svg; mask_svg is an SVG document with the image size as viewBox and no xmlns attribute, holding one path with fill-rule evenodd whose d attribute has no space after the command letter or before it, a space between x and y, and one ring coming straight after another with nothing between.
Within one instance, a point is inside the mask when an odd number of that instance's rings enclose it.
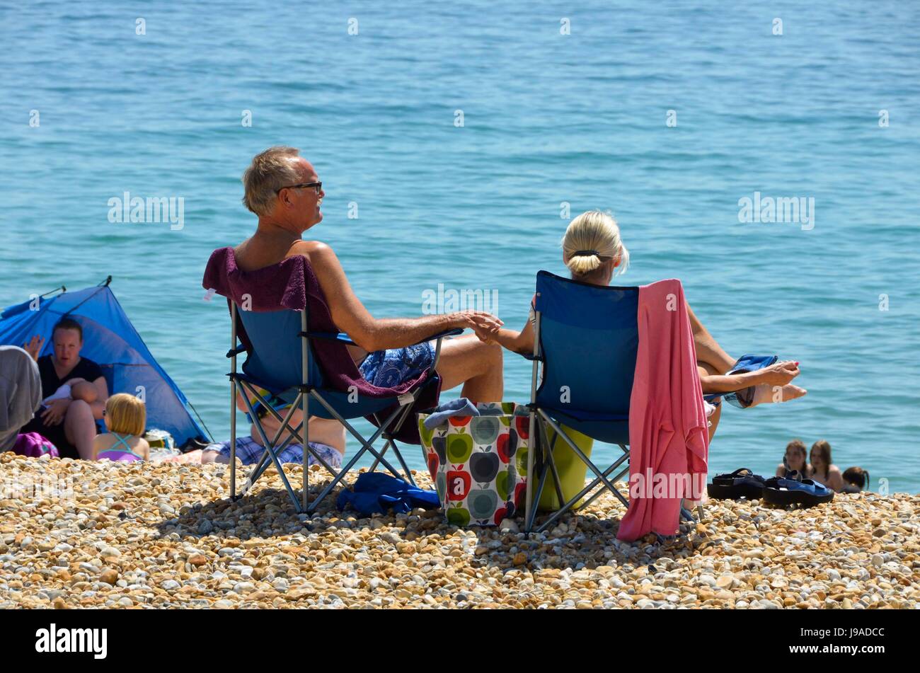
<instances>
[{"instance_id":1,"label":"woman in black top holding a baby by the tent","mask_svg":"<svg viewBox=\"0 0 920 673\"><path fill-rule=\"evenodd\" d=\"M62 458L92 460L96 419L102 417L109 387L102 370L91 359L80 357L83 327L62 318L52 331L54 352L39 358L44 340L32 337L24 348L39 364L41 397L51 397L65 383L70 394L49 401L21 432L38 432L51 439Z\"/></svg>"}]
</instances>

